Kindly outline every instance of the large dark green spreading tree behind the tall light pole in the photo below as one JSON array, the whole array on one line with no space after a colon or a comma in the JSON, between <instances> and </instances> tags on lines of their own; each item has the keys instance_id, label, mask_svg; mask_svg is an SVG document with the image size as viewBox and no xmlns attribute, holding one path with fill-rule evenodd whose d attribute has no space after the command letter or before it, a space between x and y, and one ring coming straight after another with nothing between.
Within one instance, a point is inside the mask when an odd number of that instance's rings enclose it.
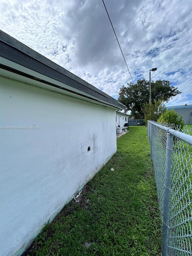
<instances>
[{"instance_id":1,"label":"large dark green spreading tree behind the tall light pole","mask_svg":"<svg viewBox=\"0 0 192 256\"><path fill-rule=\"evenodd\" d=\"M167 80L157 80L151 82L152 104L164 97L164 102L168 102L172 97L181 93L178 87L170 86ZM144 119L144 104L149 102L149 81L146 79L137 80L136 84L128 83L119 90L118 100L126 106L125 111L131 110L131 115L135 119Z\"/></svg>"}]
</instances>

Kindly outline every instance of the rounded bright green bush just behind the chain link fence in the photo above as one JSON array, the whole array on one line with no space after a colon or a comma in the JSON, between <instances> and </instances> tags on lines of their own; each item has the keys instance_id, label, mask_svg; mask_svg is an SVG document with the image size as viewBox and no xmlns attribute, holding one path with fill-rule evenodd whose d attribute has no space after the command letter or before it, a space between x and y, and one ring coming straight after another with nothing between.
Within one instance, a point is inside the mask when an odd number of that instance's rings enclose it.
<instances>
[{"instance_id":1,"label":"rounded bright green bush just behind the chain link fence","mask_svg":"<svg viewBox=\"0 0 192 256\"><path fill-rule=\"evenodd\" d=\"M174 109L170 109L170 110L166 110L158 119L158 122L160 123L170 123L170 124L174 124L175 127L178 127L181 125L181 129L184 126L184 119L183 119L183 115L180 115L178 113L175 112Z\"/></svg>"}]
</instances>

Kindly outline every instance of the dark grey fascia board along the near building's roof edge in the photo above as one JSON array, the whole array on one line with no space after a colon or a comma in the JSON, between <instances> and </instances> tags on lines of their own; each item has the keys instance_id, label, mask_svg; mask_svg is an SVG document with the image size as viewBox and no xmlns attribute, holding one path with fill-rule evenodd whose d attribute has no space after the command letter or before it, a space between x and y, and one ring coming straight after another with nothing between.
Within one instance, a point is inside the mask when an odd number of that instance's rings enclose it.
<instances>
[{"instance_id":1,"label":"dark grey fascia board along the near building's roof edge","mask_svg":"<svg viewBox=\"0 0 192 256\"><path fill-rule=\"evenodd\" d=\"M105 101L108 106L112 105L114 107L115 105L117 107L116 109L125 109L126 107L113 97L107 95L95 86L92 86L1 30L0 56L45 75L46 77L64 83L70 86L72 90L79 90L82 95L83 93L86 93L101 101ZM65 88L63 88L63 90L65 90ZM74 94L75 93L76 92L74 92Z\"/></svg>"}]
</instances>

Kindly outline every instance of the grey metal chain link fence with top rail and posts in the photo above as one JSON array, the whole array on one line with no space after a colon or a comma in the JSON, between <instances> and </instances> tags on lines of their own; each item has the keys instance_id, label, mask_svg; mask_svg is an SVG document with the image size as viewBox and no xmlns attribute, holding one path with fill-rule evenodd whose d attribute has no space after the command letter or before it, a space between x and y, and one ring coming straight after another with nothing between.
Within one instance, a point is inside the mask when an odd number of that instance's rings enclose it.
<instances>
[{"instance_id":1,"label":"grey metal chain link fence with top rail and posts","mask_svg":"<svg viewBox=\"0 0 192 256\"><path fill-rule=\"evenodd\" d=\"M148 121L162 216L162 256L192 255L192 127Z\"/></svg>"}]
</instances>

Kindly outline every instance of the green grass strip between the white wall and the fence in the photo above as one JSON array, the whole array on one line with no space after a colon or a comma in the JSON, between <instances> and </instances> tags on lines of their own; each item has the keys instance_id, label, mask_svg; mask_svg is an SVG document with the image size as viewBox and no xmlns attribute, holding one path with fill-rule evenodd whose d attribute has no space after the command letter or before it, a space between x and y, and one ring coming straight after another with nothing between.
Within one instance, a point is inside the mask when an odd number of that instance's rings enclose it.
<instances>
[{"instance_id":1,"label":"green grass strip between the white wall and the fence","mask_svg":"<svg viewBox=\"0 0 192 256\"><path fill-rule=\"evenodd\" d=\"M145 126L131 126L117 140L116 154L79 198L23 255L161 255L161 217Z\"/></svg>"}]
</instances>

